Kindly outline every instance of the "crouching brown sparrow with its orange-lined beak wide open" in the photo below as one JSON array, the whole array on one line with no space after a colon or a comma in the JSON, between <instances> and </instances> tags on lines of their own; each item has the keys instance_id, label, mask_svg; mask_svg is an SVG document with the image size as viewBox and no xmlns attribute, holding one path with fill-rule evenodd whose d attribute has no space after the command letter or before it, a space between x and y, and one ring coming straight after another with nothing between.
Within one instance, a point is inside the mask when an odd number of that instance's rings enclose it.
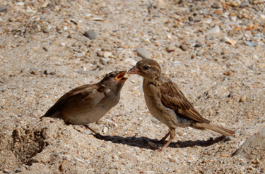
<instances>
[{"instance_id":1,"label":"crouching brown sparrow with its orange-lined beak wide open","mask_svg":"<svg viewBox=\"0 0 265 174\"><path fill-rule=\"evenodd\" d=\"M98 134L87 124L100 120L118 104L120 92L127 80L127 77L124 77L126 73L126 70L112 72L96 84L72 89L49 108L41 118L61 118L68 125L85 125Z\"/></svg>"}]
</instances>

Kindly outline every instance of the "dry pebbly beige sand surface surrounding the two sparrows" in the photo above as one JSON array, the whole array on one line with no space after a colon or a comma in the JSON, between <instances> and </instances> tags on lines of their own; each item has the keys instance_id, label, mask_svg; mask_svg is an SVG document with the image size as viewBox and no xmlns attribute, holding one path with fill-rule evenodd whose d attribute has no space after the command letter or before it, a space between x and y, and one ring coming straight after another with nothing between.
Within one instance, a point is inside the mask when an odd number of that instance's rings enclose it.
<instances>
[{"instance_id":1,"label":"dry pebbly beige sand surface surrounding the two sparrows","mask_svg":"<svg viewBox=\"0 0 265 174\"><path fill-rule=\"evenodd\" d=\"M233 156L265 126L264 9L262 0L0 1L0 173L264 173L263 159ZM137 75L90 124L102 137L39 119L65 92L129 70L140 47L235 137L178 128L159 152L151 141L167 126L149 113Z\"/></svg>"}]
</instances>

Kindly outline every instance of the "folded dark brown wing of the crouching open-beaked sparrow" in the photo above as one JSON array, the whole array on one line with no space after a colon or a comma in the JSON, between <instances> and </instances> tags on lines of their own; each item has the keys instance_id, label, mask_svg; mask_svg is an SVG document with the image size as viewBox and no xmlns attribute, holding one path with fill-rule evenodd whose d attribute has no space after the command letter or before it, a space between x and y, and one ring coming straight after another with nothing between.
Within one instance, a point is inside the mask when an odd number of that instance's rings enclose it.
<instances>
[{"instance_id":1,"label":"folded dark brown wing of the crouching open-beaked sparrow","mask_svg":"<svg viewBox=\"0 0 265 174\"><path fill-rule=\"evenodd\" d=\"M92 92L95 91L96 85L83 85L81 87L76 87L75 89L72 89L70 92L67 92L64 94L49 110L45 113L42 117L51 117L54 113L59 111L61 107L64 106L64 104L72 99L73 97L76 97L77 95L81 95L83 99L86 99L86 97L89 96Z\"/></svg>"}]
</instances>

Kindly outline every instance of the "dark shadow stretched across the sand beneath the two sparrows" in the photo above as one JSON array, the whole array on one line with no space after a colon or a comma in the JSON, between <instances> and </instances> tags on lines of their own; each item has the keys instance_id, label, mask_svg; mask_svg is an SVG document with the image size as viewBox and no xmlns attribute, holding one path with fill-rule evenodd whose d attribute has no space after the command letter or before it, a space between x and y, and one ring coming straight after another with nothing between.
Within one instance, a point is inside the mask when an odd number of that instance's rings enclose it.
<instances>
[{"instance_id":1,"label":"dark shadow stretched across the sand beneath the two sparrows","mask_svg":"<svg viewBox=\"0 0 265 174\"><path fill-rule=\"evenodd\" d=\"M121 137L119 135L94 135L97 139L102 139L104 141L110 141L117 144L126 144L132 147L139 147L143 149L158 149L159 147L163 147L164 144L158 143L158 139L150 139L148 137ZM218 142L223 141L225 136L216 137L213 139L210 137L208 140L196 140L196 141L177 141L171 142L168 147L175 147L175 148L186 148L186 147L208 147L212 144L216 144ZM153 148L151 147L148 142L154 142L158 147Z\"/></svg>"}]
</instances>

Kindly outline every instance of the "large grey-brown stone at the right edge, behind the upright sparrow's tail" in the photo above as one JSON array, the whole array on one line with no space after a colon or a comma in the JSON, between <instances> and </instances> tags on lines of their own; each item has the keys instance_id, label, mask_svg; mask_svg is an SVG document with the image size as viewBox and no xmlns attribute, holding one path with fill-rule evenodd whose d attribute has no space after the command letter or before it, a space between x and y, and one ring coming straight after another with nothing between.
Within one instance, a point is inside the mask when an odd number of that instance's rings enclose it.
<instances>
[{"instance_id":1,"label":"large grey-brown stone at the right edge, behind the upright sparrow's tail","mask_svg":"<svg viewBox=\"0 0 265 174\"><path fill-rule=\"evenodd\" d=\"M265 160L265 128L259 130L249 137L237 151L235 155L240 155L245 159Z\"/></svg>"}]
</instances>

